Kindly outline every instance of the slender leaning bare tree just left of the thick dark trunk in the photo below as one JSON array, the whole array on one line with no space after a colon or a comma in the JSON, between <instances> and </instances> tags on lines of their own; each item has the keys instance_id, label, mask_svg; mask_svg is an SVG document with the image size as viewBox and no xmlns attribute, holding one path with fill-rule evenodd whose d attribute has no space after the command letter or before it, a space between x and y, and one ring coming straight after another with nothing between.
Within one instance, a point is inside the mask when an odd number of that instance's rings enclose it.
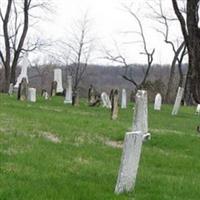
<instances>
[{"instance_id":1,"label":"slender leaning bare tree just left of the thick dark trunk","mask_svg":"<svg viewBox=\"0 0 200 200\"><path fill-rule=\"evenodd\" d=\"M173 18L171 16L167 16L164 12L162 0L154 1L154 5L148 4L149 7L153 10L153 17L158 21L162 28L156 28L156 31L159 32L163 38L166 44L171 46L171 49L173 51L173 59L171 62L171 68L170 68L170 75L169 75L169 80L167 83L167 91L165 95L165 101L166 103L170 103L172 100L172 91L174 88L174 80L175 80L175 69L176 69L176 64L178 63L178 71L179 71L179 86L183 86L183 79L184 79L184 74L182 70L182 61L184 56L186 55L186 45L185 41L178 42L178 47L176 47L175 42L170 39L170 25L169 23L172 21L177 21L177 18ZM178 40L178 39L177 39Z\"/></svg>"}]
</instances>

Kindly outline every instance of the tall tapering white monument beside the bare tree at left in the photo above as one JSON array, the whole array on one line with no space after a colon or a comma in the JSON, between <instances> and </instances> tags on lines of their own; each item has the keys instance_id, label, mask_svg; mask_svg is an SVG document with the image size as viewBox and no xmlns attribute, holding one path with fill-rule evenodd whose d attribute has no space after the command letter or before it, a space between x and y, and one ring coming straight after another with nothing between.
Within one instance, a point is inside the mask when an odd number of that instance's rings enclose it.
<instances>
[{"instance_id":1,"label":"tall tapering white monument beside the bare tree at left","mask_svg":"<svg viewBox=\"0 0 200 200\"><path fill-rule=\"evenodd\" d=\"M22 78L26 78L26 81L28 83L28 75L27 75L27 70L28 70L28 66L30 65L29 60L28 60L28 54L25 54L23 57L23 61L21 64L21 73L17 78L17 82L14 86L14 88L19 88L19 84L22 81Z\"/></svg>"}]
</instances>

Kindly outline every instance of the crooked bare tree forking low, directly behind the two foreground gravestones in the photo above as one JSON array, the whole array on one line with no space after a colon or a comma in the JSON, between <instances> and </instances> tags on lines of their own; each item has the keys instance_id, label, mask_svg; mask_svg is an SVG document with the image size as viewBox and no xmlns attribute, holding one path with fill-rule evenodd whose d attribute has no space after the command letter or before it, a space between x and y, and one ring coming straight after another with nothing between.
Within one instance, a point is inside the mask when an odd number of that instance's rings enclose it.
<instances>
[{"instance_id":1,"label":"crooked bare tree forking low, directly behind the two foreground gravestones","mask_svg":"<svg viewBox=\"0 0 200 200\"><path fill-rule=\"evenodd\" d=\"M141 42L143 44L143 51L140 52L140 54L143 54L146 56L146 61L147 61L147 67L144 70L144 76L142 78L142 80L138 83L134 78L133 78L133 73L132 73L132 68L131 68L131 64L128 64L126 61L125 56L123 56L119 50L118 50L118 55L117 56L113 56L112 53L110 53L109 51L106 51L106 59L117 62L121 65L123 65L125 67L125 71L124 74L122 75L122 77L131 82L136 90L138 89L142 89L145 86L146 80L148 78L152 63L153 63L153 56L155 53L155 49L149 51L147 48L147 42L146 42L146 38L145 38L145 34L144 34L144 30L143 30L143 26L142 26L142 22L139 19L139 17L131 10L131 8L129 6L124 6L124 8L126 9L126 11L134 18L134 20L136 20L138 26L139 26L139 35L141 37Z\"/></svg>"}]
</instances>

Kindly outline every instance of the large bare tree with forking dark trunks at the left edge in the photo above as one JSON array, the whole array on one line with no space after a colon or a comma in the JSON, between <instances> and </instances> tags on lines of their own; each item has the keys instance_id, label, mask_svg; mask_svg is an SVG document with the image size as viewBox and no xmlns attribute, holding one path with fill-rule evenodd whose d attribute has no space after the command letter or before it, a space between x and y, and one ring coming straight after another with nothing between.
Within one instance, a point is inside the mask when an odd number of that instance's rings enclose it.
<instances>
[{"instance_id":1,"label":"large bare tree with forking dark trunks at the left edge","mask_svg":"<svg viewBox=\"0 0 200 200\"><path fill-rule=\"evenodd\" d=\"M0 36L3 40L0 46L0 61L5 69L5 91L8 90L10 83L15 84L15 72L21 54L35 50L40 43L39 40L31 43L26 39L33 10L45 8L46 5L47 2L42 0L22 0L21 2L7 0L7 3L6 1L0 3L0 25L2 25Z\"/></svg>"}]
</instances>

